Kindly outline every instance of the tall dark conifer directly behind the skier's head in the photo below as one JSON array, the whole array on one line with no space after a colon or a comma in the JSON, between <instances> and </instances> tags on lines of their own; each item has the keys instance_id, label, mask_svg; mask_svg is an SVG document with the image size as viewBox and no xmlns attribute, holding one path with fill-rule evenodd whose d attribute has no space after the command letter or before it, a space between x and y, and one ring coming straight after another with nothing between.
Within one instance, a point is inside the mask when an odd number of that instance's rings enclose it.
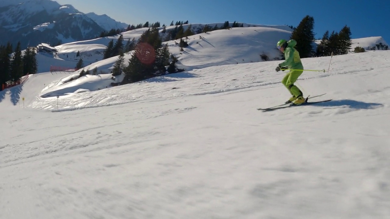
<instances>
[{"instance_id":1,"label":"tall dark conifer directly behind the skier's head","mask_svg":"<svg viewBox=\"0 0 390 219\"><path fill-rule=\"evenodd\" d=\"M291 34L290 38L297 42L295 48L300 53L301 58L308 58L313 55L312 42L315 40L313 29L314 18L307 15Z\"/></svg>"}]
</instances>

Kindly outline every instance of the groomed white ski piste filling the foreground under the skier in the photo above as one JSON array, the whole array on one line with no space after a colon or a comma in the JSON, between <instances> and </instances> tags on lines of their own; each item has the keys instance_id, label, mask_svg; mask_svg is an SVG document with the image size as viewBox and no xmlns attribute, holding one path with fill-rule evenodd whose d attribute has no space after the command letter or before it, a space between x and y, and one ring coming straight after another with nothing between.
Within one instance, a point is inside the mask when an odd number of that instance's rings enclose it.
<instances>
[{"instance_id":1,"label":"groomed white ski piste filling the foreground under the skier","mask_svg":"<svg viewBox=\"0 0 390 219\"><path fill-rule=\"evenodd\" d=\"M279 36L227 55L225 32L181 73L102 88L110 74L44 72L0 92L0 218L387 218L390 52L304 58L319 72L296 85L332 101L261 112L290 97L281 61L227 60Z\"/></svg>"}]
</instances>

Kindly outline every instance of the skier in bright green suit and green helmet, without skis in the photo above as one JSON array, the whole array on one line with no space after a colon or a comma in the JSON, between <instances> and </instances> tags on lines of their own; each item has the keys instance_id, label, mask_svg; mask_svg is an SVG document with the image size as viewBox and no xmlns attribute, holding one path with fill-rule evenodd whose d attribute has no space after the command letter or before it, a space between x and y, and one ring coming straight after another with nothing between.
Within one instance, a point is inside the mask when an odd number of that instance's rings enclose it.
<instances>
[{"instance_id":1,"label":"skier in bright green suit and green helmet, without skis","mask_svg":"<svg viewBox=\"0 0 390 219\"><path fill-rule=\"evenodd\" d=\"M293 39L289 41L281 39L278 41L277 48L284 53L285 61L280 63L275 70L278 72L280 69L282 69L282 71L284 71L284 69L297 69L289 71L282 79L282 84L289 90L291 95L293 95L286 103L300 105L305 102L305 98L303 98L302 91L296 87L294 83L302 74L303 65L299 52L294 48L295 45L296 41Z\"/></svg>"}]
</instances>

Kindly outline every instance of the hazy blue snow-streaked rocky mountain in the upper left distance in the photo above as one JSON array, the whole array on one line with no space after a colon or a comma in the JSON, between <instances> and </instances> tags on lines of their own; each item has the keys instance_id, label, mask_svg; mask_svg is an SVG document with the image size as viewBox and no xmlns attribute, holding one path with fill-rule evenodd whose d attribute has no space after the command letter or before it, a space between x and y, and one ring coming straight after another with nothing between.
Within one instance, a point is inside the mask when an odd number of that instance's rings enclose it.
<instances>
[{"instance_id":1,"label":"hazy blue snow-streaked rocky mountain in the upper left distance","mask_svg":"<svg viewBox=\"0 0 390 219\"><path fill-rule=\"evenodd\" d=\"M72 5L60 5L51 0L0 2L0 44L21 41L22 48L42 42L55 46L94 39L103 30L117 29L120 24L125 26L108 16L87 15Z\"/></svg>"}]
</instances>

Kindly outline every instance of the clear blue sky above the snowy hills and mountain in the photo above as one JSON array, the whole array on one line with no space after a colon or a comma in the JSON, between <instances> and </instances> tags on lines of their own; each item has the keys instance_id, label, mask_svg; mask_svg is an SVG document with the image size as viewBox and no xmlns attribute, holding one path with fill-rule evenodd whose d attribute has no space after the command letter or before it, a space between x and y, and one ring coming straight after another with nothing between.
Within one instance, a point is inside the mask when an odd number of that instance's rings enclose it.
<instances>
[{"instance_id":1,"label":"clear blue sky above the snowy hills and mountain","mask_svg":"<svg viewBox=\"0 0 390 219\"><path fill-rule=\"evenodd\" d=\"M173 21L297 26L306 15L314 18L316 38L326 30L351 28L352 38L382 36L390 43L390 0L57 0L84 13L107 14L124 23L169 25Z\"/></svg>"}]
</instances>

